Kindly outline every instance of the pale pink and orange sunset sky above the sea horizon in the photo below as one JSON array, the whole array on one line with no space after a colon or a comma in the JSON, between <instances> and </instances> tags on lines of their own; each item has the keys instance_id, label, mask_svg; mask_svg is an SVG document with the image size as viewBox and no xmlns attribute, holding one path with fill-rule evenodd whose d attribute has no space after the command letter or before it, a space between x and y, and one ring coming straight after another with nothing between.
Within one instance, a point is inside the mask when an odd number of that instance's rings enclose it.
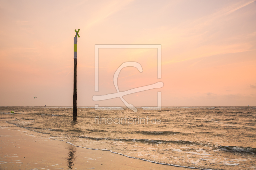
<instances>
[{"instance_id":1,"label":"pale pink and orange sunset sky above the sea horizon","mask_svg":"<svg viewBox=\"0 0 256 170\"><path fill-rule=\"evenodd\" d=\"M256 106L254 0L0 0L0 106L73 106L73 43L77 42L77 106L122 106L118 88L163 82L124 96L135 107ZM156 48L100 48L96 44L160 44ZM34 99L36 97L36 99Z\"/></svg>"}]
</instances>

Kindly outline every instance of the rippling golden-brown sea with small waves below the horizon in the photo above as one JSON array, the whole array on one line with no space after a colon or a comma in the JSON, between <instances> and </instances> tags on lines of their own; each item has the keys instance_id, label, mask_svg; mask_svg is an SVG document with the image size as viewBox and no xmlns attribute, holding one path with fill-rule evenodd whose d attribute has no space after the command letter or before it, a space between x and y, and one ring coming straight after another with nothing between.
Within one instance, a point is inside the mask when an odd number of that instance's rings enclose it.
<instances>
[{"instance_id":1,"label":"rippling golden-brown sea with small waves below the horizon","mask_svg":"<svg viewBox=\"0 0 256 170\"><path fill-rule=\"evenodd\" d=\"M198 169L256 169L256 107L0 107L1 118L53 140ZM14 113L11 113L13 111Z\"/></svg>"}]
</instances>

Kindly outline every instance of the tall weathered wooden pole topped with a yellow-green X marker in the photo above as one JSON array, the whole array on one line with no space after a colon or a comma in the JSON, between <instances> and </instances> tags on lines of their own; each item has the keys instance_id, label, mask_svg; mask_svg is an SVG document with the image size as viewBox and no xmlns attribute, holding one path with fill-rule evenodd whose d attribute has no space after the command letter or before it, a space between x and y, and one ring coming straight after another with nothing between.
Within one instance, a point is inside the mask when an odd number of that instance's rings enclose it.
<instances>
[{"instance_id":1,"label":"tall weathered wooden pole topped with a yellow-green X marker","mask_svg":"<svg viewBox=\"0 0 256 170\"><path fill-rule=\"evenodd\" d=\"M77 100L77 93L76 93L76 66L77 66L77 36L80 29L76 32L76 36L74 37L74 89L73 89L73 121L76 121L77 116L77 107L76 107L76 100ZM76 30L75 30L76 31Z\"/></svg>"}]
</instances>

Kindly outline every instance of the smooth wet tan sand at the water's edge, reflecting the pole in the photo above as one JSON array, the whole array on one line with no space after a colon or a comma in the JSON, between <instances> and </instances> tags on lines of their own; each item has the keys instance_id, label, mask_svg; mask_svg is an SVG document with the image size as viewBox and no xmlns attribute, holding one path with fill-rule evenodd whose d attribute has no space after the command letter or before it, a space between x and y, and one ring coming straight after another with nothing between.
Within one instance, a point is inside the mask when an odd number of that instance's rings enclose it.
<instances>
[{"instance_id":1,"label":"smooth wet tan sand at the water's edge, reflecting the pole","mask_svg":"<svg viewBox=\"0 0 256 170\"><path fill-rule=\"evenodd\" d=\"M127 169L191 170L128 158L109 151L76 147L0 119L0 169Z\"/></svg>"}]
</instances>

